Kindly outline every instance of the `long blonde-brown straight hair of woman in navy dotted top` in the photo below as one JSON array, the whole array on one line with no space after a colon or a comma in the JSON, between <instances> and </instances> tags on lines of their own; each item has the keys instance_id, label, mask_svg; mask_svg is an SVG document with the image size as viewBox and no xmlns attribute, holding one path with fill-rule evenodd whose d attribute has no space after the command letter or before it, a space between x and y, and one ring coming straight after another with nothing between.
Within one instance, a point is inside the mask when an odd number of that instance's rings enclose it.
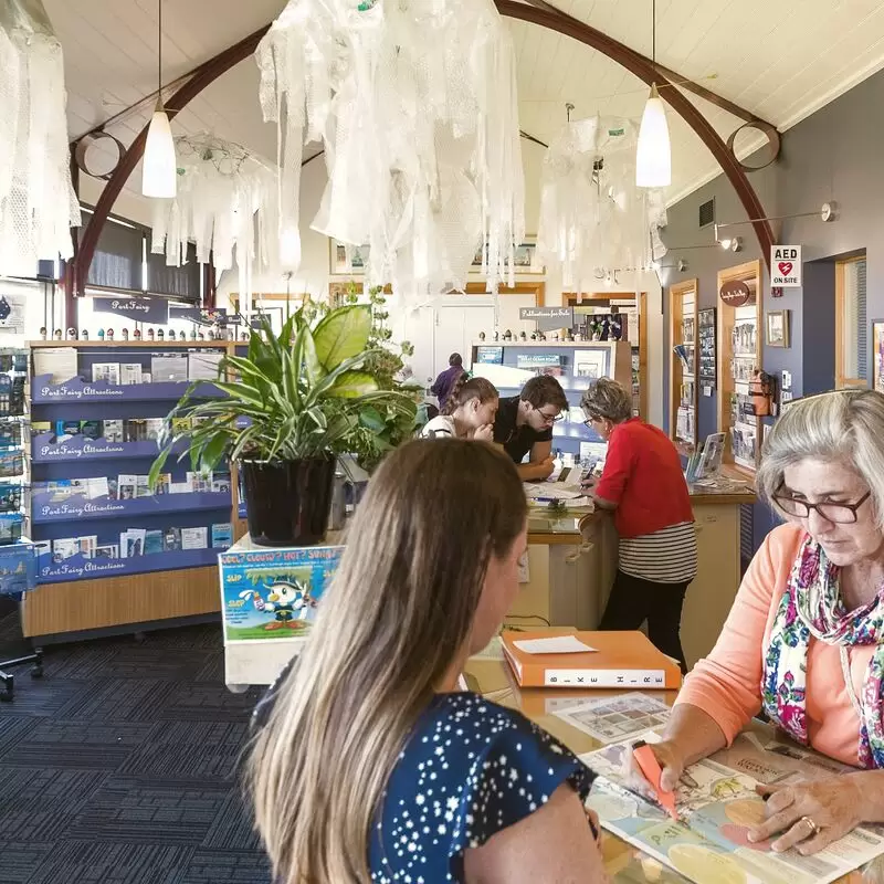
<instances>
[{"instance_id":1,"label":"long blonde-brown straight hair of woman in navy dotted top","mask_svg":"<svg viewBox=\"0 0 884 884\"><path fill-rule=\"evenodd\" d=\"M526 512L512 460L481 442L417 440L372 477L248 762L278 884L370 880L387 781L467 645L491 557L512 550Z\"/></svg>"}]
</instances>

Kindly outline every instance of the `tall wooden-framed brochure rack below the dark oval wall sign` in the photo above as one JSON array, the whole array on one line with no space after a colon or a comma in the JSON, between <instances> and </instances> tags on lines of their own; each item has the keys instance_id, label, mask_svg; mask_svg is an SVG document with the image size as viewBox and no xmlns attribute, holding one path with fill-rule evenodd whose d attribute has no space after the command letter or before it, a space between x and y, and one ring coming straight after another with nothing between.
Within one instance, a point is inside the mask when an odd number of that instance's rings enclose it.
<instances>
[{"instance_id":1,"label":"tall wooden-framed brochure rack below the dark oval wall sign","mask_svg":"<svg viewBox=\"0 0 884 884\"><path fill-rule=\"evenodd\" d=\"M718 291L743 284L736 299L718 305L718 432L729 444L724 462L754 473L761 455L764 423L755 414L750 383L761 367L761 264L749 261L718 273Z\"/></svg>"}]
</instances>

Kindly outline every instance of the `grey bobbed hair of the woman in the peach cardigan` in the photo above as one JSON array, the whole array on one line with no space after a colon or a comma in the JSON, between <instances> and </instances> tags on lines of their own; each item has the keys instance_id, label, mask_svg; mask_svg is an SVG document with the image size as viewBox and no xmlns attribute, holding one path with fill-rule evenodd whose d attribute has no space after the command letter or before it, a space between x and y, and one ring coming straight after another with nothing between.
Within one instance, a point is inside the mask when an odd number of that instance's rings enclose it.
<instances>
[{"instance_id":1,"label":"grey bobbed hair of the woman in the peach cardigan","mask_svg":"<svg viewBox=\"0 0 884 884\"><path fill-rule=\"evenodd\" d=\"M884 530L884 394L833 390L789 406L765 440L756 485L759 496L783 518L774 499L789 466L806 459L840 461L869 486L875 520Z\"/></svg>"}]
</instances>

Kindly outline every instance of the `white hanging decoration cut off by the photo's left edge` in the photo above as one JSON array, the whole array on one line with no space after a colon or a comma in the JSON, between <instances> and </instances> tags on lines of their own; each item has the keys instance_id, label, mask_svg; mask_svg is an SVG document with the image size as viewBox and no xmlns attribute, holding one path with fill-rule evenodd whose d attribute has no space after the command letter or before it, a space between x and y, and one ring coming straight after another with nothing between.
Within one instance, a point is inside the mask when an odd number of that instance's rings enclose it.
<instances>
[{"instance_id":1,"label":"white hanging decoration cut off by the photo's left edge","mask_svg":"<svg viewBox=\"0 0 884 884\"><path fill-rule=\"evenodd\" d=\"M41 0L0 3L0 274L73 255L64 60Z\"/></svg>"}]
</instances>

